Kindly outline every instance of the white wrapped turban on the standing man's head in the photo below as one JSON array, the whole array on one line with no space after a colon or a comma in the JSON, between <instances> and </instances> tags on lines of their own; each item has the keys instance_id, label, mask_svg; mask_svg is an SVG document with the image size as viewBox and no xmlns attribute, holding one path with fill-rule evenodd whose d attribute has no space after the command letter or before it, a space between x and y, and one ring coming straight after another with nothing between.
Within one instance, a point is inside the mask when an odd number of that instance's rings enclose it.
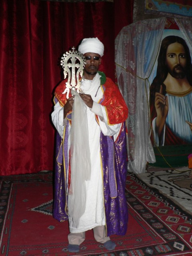
<instances>
[{"instance_id":1,"label":"white wrapped turban on the standing man's head","mask_svg":"<svg viewBox=\"0 0 192 256\"><path fill-rule=\"evenodd\" d=\"M78 50L82 54L85 54L86 52L94 52L99 54L102 57L104 53L104 45L97 37L84 38Z\"/></svg>"}]
</instances>

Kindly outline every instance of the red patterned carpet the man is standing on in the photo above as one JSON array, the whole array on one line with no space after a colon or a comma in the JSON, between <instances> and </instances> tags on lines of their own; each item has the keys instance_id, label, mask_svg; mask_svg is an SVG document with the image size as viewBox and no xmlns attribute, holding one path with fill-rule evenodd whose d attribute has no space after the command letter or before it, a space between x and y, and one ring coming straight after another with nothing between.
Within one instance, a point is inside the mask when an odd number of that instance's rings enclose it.
<instances>
[{"instance_id":1,"label":"red patterned carpet the man is standing on","mask_svg":"<svg viewBox=\"0 0 192 256\"><path fill-rule=\"evenodd\" d=\"M92 230L79 253L67 250L68 222L52 217L52 172L0 177L1 256L169 256L192 255L192 216L158 190L129 173L125 236L112 236L108 252Z\"/></svg>"}]
</instances>

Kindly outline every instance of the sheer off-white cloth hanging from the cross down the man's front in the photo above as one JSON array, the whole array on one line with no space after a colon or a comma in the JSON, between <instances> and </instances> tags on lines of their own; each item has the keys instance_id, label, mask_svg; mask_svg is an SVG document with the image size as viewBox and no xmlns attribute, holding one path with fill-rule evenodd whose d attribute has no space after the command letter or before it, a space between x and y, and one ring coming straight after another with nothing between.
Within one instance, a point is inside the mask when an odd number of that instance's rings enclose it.
<instances>
[{"instance_id":1,"label":"sheer off-white cloth hanging from the cross down the man's front","mask_svg":"<svg viewBox=\"0 0 192 256\"><path fill-rule=\"evenodd\" d=\"M91 163L87 123L87 106L76 91L72 109L70 134L71 182L68 194L68 214L73 226L78 227L79 219L85 212L86 180L90 180Z\"/></svg>"}]
</instances>

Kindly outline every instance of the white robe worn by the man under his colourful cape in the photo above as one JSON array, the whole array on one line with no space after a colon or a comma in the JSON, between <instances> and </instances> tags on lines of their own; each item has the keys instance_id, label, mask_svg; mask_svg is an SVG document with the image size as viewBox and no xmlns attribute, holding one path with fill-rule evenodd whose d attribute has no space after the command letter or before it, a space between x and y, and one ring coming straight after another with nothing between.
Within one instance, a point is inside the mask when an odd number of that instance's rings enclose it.
<instances>
[{"instance_id":1,"label":"white robe worn by the man under his colourful cape","mask_svg":"<svg viewBox=\"0 0 192 256\"><path fill-rule=\"evenodd\" d=\"M82 79L81 89L85 94L90 94L94 101L92 109L87 107L91 178L89 181L86 181L86 207L84 214L80 217L78 228L73 227L72 218L69 217L71 233L84 232L96 226L106 224L100 160L100 132L102 131L107 136L114 136L114 140L116 140L121 127L121 124L108 125L105 107L97 103L103 95L100 88L100 75L98 73L93 80ZM96 122L95 114L98 114L99 125ZM59 103L55 105L54 112L52 112L52 121L62 137L65 122L63 122L63 108ZM70 145L70 127L68 140L68 145ZM70 200L70 196L68 200Z\"/></svg>"}]
</instances>

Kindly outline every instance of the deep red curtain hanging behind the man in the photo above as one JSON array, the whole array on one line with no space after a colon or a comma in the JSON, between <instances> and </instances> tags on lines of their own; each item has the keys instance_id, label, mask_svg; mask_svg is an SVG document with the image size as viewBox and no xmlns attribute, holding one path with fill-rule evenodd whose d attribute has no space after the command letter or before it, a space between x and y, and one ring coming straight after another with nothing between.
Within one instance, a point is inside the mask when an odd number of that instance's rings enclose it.
<instances>
[{"instance_id":1,"label":"deep red curtain hanging behind the man","mask_svg":"<svg viewBox=\"0 0 192 256\"><path fill-rule=\"evenodd\" d=\"M132 6L133 0L0 1L0 175L53 170L50 113L60 56L82 38L98 37L105 45L100 70L114 79L114 39L132 22Z\"/></svg>"}]
</instances>

